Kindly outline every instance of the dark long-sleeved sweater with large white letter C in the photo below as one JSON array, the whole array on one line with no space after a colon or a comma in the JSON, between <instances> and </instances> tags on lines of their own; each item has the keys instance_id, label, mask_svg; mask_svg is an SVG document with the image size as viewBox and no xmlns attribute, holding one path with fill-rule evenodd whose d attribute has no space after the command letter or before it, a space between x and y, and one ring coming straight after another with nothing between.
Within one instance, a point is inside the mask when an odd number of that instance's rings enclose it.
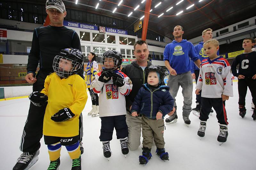
<instances>
[{"instance_id":1,"label":"dark long-sleeved sweater with large white letter C","mask_svg":"<svg viewBox=\"0 0 256 170\"><path fill-rule=\"evenodd\" d=\"M238 73L236 66L239 64ZM245 78L252 78L256 74L256 52L242 53L236 56L231 66L232 74L236 77L244 75Z\"/></svg>"}]
</instances>

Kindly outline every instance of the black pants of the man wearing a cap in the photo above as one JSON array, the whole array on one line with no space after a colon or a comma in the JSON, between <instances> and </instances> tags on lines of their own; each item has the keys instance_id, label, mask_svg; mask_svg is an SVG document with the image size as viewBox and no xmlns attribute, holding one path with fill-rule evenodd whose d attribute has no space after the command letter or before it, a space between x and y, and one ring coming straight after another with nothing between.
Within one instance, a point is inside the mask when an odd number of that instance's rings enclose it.
<instances>
[{"instance_id":1,"label":"black pants of the man wearing a cap","mask_svg":"<svg viewBox=\"0 0 256 170\"><path fill-rule=\"evenodd\" d=\"M36 82L33 84L33 91L42 91L44 89L44 80L48 74L42 71L38 71L36 75ZM43 136L43 122L45 106L35 106L30 102L28 117L25 123L21 142L20 151L33 153L40 148L40 139ZM83 137L83 116L82 113L79 117L79 137L82 140Z\"/></svg>"}]
</instances>

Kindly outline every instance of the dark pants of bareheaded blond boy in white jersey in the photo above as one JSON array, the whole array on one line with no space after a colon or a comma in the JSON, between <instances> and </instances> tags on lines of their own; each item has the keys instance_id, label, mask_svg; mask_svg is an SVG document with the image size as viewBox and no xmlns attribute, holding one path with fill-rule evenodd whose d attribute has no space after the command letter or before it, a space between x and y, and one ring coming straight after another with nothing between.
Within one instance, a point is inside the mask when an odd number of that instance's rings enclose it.
<instances>
[{"instance_id":1,"label":"dark pants of bareheaded blond boy in white jersey","mask_svg":"<svg viewBox=\"0 0 256 170\"><path fill-rule=\"evenodd\" d=\"M211 108L216 111L217 119L219 124L226 124L228 125L228 118L227 113L225 109L225 101L222 101L222 98L206 98L201 97L202 99L202 108L200 111L200 117L199 119L201 121L207 121L209 119L209 114L211 111Z\"/></svg>"}]
</instances>

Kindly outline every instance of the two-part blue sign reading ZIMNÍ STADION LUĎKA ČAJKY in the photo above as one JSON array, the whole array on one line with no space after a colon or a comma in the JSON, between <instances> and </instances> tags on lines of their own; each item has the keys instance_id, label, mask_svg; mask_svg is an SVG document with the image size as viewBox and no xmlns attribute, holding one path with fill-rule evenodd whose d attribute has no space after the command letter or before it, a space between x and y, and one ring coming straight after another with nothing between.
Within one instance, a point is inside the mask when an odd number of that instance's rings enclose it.
<instances>
[{"instance_id":1,"label":"two-part blue sign reading ZIMN\u00cd STADION LU\u010eKA \u010cAJKY","mask_svg":"<svg viewBox=\"0 0 256 170\"><path fill-rule=\"evenodd\" d=\"M64 26L70 26L75 28L83 28L83 29L89 29L89 30L96 30L99 31L99 27L96 25L90 25L90 24L84 24L84 23L78 23L78 22L72 22L72 21L63 21ZM106 27L106 32L112 32L112 33L118 33L118 34L128 34L127 30L120 30L116 28L108 28Z\"/></svg>"}]
</instances>

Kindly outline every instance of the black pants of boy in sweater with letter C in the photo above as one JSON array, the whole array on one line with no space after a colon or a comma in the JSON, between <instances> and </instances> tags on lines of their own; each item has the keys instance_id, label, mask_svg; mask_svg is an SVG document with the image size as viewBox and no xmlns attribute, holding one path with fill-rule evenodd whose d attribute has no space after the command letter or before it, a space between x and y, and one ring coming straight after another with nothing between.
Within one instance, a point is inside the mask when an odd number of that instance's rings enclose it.
<instances>
[{"instance_id":1,"label":"black pants of boy in sweater with letter C","mask_svg":"<svg viewBox=\"0 0 256 170\"><path fill-rule=\"evenodd\" d=\"M256 80L252 78L238 79L238 104L245 106L247 87L249 87L252 94L252 103L256 106Z\"/></svg>"}]
</instances>

